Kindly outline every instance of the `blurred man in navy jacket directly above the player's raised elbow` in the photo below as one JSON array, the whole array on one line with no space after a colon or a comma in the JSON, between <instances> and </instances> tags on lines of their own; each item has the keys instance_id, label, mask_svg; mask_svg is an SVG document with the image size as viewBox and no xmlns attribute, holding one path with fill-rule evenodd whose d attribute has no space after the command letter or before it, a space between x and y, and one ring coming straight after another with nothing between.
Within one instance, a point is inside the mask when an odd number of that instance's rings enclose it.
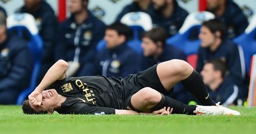
<instances>
[{"instance_id":1,"label":"blurred man in navy jacket directly above the player's raised elbow","mask_svg":"<svg viewBox=\"0 0 256 134\"><path fill-rule=\"evenodd\" d=\"M96 45L104 36L105 24L87 9L89 0L70 0L71 17L57 31L55 60L68 61L68 76L90 76L94 67Z\"/></svg>"}]
</instances>

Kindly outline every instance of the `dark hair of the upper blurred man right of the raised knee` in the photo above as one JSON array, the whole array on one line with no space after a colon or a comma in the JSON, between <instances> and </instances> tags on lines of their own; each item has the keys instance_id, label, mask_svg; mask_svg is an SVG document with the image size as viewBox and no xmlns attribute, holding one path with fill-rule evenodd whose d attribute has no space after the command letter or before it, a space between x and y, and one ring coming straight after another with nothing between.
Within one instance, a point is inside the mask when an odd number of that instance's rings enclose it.
<instances>
[{"instance_id":1,"label":"dark hair of the upper blurred man right of the raised knee","mask_svg":"<svg viewBox=\"0 0 256 134\"><path fill-rule=\"evenodd\" d=\"M203 22L202 26L208 27L208 29L215 34L215 32L219 31L221 33L220 38L224 39L225 38L225 33L226 33L226 26L223 21L220 19L214 18L212 20L208 20Z\"/></svg>"}]
</instances>

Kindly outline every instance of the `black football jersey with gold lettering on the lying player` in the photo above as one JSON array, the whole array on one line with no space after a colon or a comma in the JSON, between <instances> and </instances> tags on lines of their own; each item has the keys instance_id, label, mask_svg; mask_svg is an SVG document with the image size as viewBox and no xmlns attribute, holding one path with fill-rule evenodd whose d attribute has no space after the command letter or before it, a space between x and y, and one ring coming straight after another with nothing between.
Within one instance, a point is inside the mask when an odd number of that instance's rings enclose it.
<instances>
[{"instance_id":1,"label":"black football jersey with gold lettering on the lying player","mask_svg":"<svg viewBox=\"0 0 256 134\"><path fill-rule=\"evenodd\" d=\"M66 77L48 89L67 97L56 110L60 114L115 114L129 96L122 79L103 76Z\"/></svg>"}]
</instances>

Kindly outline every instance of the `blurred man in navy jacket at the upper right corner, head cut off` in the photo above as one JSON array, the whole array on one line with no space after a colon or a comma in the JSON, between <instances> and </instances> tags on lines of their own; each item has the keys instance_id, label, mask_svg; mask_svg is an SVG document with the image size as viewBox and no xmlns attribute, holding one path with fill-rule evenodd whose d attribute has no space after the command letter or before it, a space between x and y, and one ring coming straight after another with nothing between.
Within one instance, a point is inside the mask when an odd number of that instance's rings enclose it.
<instances>
[{"instance_id":1,"label":"blurred man in navy jacket at the upper right corner, head cut off","mask_svg":"<svg viewBox=\"0 0 256 134\"><path fill-rule=\"evenodd\" d=\"M227 38L233 39L243 33L248 26L248 20L240 7L231 0L206 0L207 11L214 13L215 18L227 26Z\"/></svg>"}]
</instances>

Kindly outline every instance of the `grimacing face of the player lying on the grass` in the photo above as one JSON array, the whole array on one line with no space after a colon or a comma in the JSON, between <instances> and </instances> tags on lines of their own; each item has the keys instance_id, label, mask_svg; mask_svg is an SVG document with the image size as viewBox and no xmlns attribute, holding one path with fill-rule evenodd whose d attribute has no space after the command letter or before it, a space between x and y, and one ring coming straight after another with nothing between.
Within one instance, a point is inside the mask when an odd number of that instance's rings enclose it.
<instances>
[{"instance_id":1,"label":"grimacing face of the player lying on the grass","mask_svg":"<svg viewBox=\"0 0 256 134\"><path fill-rule=\"evenodd\" d=\"M30 102L29 102L30 103ZM42 104L39 106L33 106L31 107L36 111L49 111L54 110L58 103L58 94L55 89L49 89L46 91L42 91Z\"/></svg>"}]
</instances>

